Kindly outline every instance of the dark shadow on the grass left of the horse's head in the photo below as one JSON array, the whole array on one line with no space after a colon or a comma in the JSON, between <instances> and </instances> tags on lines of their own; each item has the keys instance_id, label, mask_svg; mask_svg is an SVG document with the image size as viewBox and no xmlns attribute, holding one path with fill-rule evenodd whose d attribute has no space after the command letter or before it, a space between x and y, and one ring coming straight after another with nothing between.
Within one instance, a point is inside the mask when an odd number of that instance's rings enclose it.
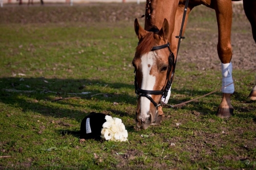
<instances>
[{"instance_id":1,"label":"dark shadow on the grass left of the horse's head","mask_svg":"<svg viewBox=\"0 0 256 170\"><path fill-rule=\"evenodd\" d=\"M113 89L111 93L102 91L105 84L108 88ZM90 90L87 90L89 87ZM91 89L93 87L93 90ZM100 110L101 105L98 101L118 102L127 104L136 104L136 96L127 95L124 92L118 92L120 88L132 89L133 85L123 83L106 83L101 80L86 80L86 79L44 79L44 78L2 78L0 79L0 101L4 104L16 108L22 108L23 111L33 111L46 116L53 117L69 117L81 120L87 115L87 111L79 111L76 107L84 107L77 102L70 102L63 100L53 102L54 99L81 97L88 101L90 109ZM6 91L5 89L11 90ZM116 89L116 90L115 90ZM18 91L20 90L20 91ZM54 91L51 93L46 91ZM90 91L90 94L68 94L81 93L83 91ZM94 95L100 94L100 95ZM104 94L107 95L104 96ZM94 95L91 99L91 95ZM57 106L56 106L57 104ZM111 111L111 109L108 109ZM90 112L90 111L89 111ZM121 111L115 111L120 115L127 115Z\"/></svg>"}]
</instances>

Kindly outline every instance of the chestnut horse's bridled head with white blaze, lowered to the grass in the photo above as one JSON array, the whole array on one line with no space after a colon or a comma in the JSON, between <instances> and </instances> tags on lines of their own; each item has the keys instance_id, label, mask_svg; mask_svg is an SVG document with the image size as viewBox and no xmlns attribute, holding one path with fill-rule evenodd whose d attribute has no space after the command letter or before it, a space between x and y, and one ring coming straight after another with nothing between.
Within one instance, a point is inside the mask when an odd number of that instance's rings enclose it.
<instances>
[{"instance_id":1,"label":"chestnut horse's bridled head with white blaze, lowered to the grass","mask_svg":"<svg viewBox=\"0 0 256 170\"><path fill-rule=\"evenodd\" d=\"M163 120L162 104L167 103L170 95L174 55L167 40L169 28L166 19L160 31L154 26L151 30L144 30L137 19L134 29L139 39L133 59L138 97L136 122L138 128L147 129Z\"/></svg>"}]
</instances>

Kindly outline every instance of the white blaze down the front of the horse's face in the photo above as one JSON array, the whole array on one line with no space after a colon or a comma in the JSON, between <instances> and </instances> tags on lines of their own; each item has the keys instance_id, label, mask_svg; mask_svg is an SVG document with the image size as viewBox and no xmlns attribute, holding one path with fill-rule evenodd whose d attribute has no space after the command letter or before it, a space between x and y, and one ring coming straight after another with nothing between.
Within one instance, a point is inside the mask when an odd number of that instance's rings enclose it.
<instances>
[{"instance_id":1,"label":"white blaze down the front of the horse's face","mask_svg":"<svg viewBox=\"0 0 256 170\"><path fill-rule=\"evenodd\" d=\"M152 65L154 64L154 52L149 52L141 57L141 64L142 64L142 82L141 82L141 89L143 90L153 90L156 82L156 77L150 75L150 71ZM151 96L151 94L148 94ZM148 117L148 112L150 111L150 104L151 101L145 97L140 98L140 119L145 120Z\"/></svg>"}]
</instances>

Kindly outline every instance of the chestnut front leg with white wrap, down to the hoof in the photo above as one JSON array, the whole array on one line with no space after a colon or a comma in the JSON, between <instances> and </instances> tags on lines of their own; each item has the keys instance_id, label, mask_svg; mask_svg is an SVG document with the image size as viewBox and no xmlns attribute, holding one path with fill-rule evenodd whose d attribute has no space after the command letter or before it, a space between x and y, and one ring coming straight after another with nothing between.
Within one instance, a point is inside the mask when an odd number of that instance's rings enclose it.
<instances>
[{"instance_id":1,"label":"chestnut front leg with white wrap, down to the hoof","mask_svg":"<svg viewBox=\"0 0 256 170\"><path fill-rule=\"evenodd\" d=\"M218 22L218 55L221 60L222 69L222 101L218 107L217 116L229 118L233 113L230 96L234 92L232 80L232 49L231 49L231 25L232 25L232 4L231 1L215 1L215 11ZM229 85L230 84L230 85ZM228 86L227 86L228 85Z\"/></svg>"}]
</instances>

